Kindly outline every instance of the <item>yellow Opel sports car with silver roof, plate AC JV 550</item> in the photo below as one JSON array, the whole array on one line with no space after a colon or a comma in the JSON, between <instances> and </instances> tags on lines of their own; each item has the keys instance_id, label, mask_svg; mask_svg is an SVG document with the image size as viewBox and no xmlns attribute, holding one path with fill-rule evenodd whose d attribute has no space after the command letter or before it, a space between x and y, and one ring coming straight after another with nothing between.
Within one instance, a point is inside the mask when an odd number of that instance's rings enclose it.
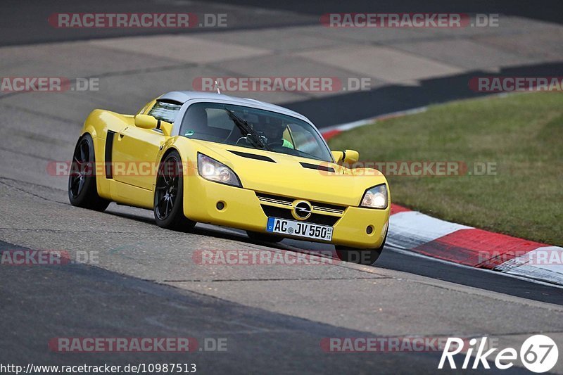
<instances>
[{"instance_id":1,"label":"yellow Opel sports car with silver roof, plate AC JV 550","mask_svg":"<svg viewBox=\"0 0 563 375\"><path fill-rule=\"evenodd\" d=\"M154 211L163 228L196 222L251 239L332 243L342 260L372 264L391 207L383 174L349 168L358 152L330 151L306 117L252 99L172 91L137 115L96 109L78 139L70 203L110 201Z\"/></svg>"}]
</instances>

